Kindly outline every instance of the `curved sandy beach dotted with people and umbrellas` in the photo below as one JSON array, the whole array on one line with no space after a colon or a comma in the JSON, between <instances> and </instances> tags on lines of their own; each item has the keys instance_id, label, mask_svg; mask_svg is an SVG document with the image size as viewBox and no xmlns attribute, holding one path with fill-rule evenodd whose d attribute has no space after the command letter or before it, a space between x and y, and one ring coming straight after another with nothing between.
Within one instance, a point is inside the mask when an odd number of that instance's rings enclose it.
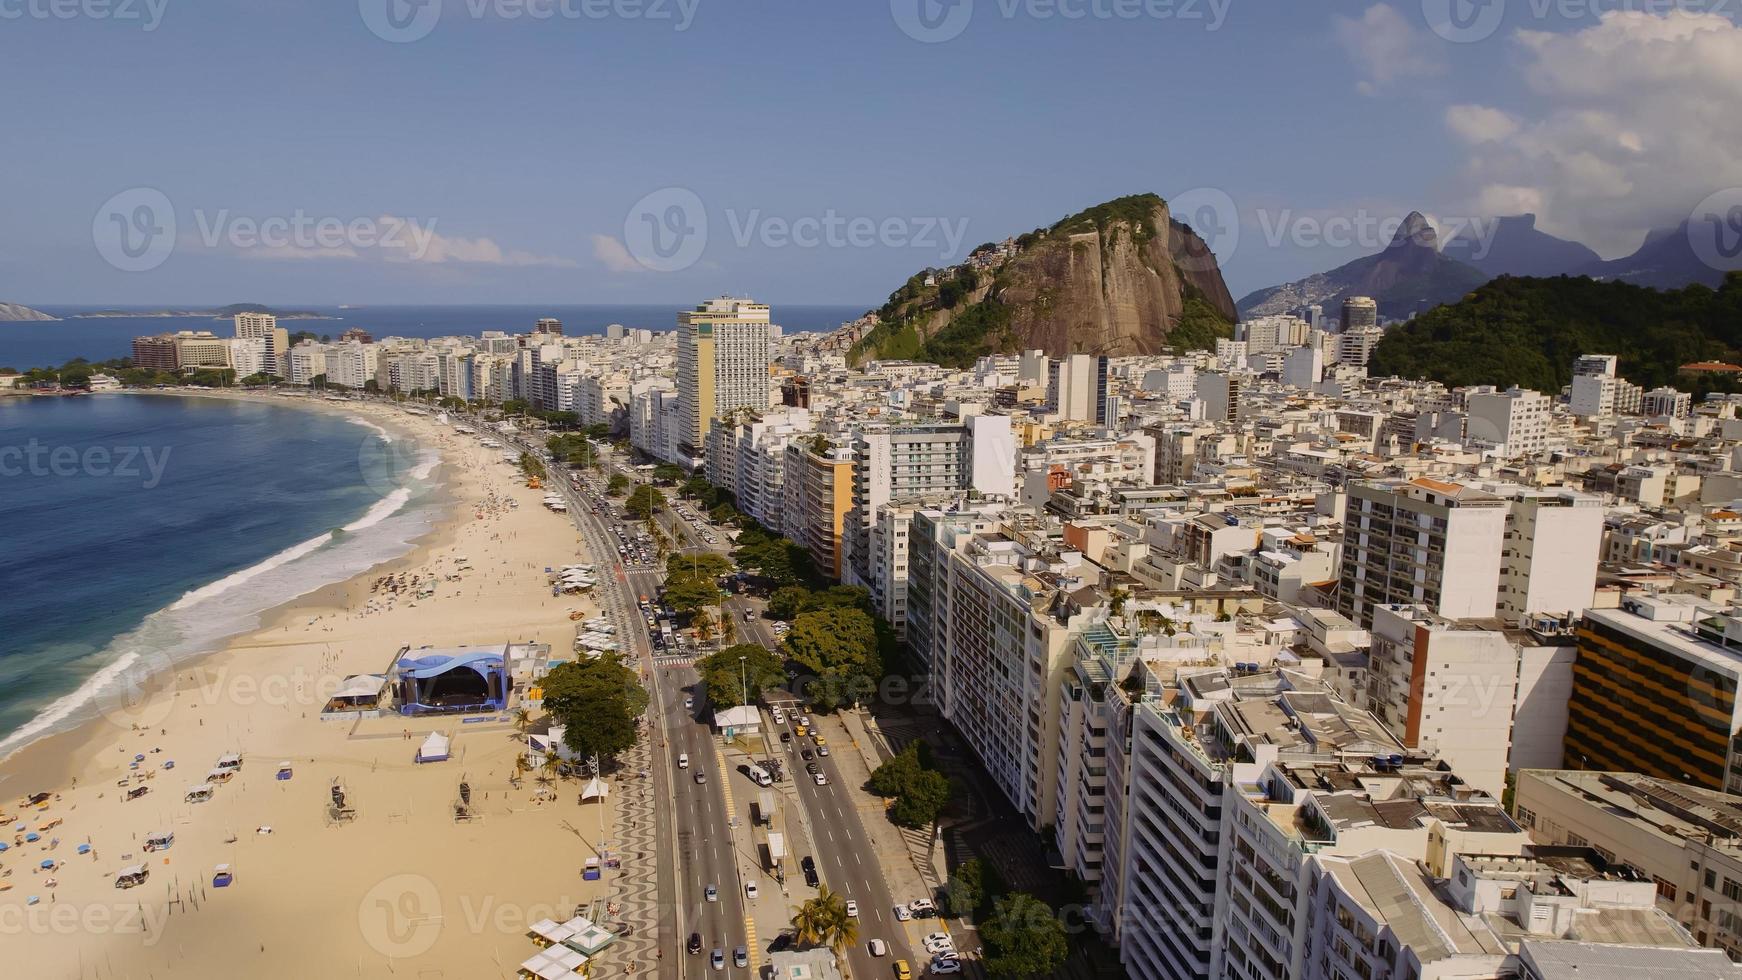
<instances>
[{"instance_id":1,"label":"curved sandy beach dotted with people and umbrellas","mask_svg":"<svg viewBox=\"0 0 1742 980\"><path fill-rule=\"evenodd\" d=\"M524 740L509 717L319 717L343 677L383 672L406 644L545 642L568 656L570 614L598 613L591 599L552 597L545 578L549 566L591 560L573 524L496 451L430 416L380 404L310 411L362 416L437 449L449 507L409 555L270 611L260 630L0 762L10 846L0 853L0 973L512 977L535 952L531 923L563 921L601 895L580 869L601 827L610 834L610 813L582 804L573 780L516 780ZM434 595L378 587L401 574L434 583ZM415 764L429 731L453 736L451 761ZM185 802L226 752L242 754L240 773L209 802ZM277 778L280 762L289 780ZM329 822L334 780L354 822ZM453 816L462 780L479 815L470 822ZM148 792L129 799L132 787ZM49 799L26 806L37 792ZM157 832L174 844L146 853ZM115 888L115 872L136 863L148 881ZM226 888L213 884L219 863L233 870Z\"/></svg>"}]
</instances>

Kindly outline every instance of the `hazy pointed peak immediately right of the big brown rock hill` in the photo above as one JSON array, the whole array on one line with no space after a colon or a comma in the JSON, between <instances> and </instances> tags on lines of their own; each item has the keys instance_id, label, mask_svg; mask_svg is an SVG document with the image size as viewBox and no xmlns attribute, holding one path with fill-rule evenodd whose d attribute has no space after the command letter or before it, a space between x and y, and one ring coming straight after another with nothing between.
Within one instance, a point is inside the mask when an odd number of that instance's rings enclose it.
<instances>
[{"instance_id":1,"label":"hazy pointed peak immediately right of the big brown rock hill","mask_svg":"<svg viewBox=\"0 0 1742 980\"><path fill-rule=\"evenodd\" d=\"M1456 303L1488 282L1481 270L1439 251L1439 233L1421 212L1411 212L1385 251L1331 272L1259 289L1240 299L1240 317L1286 313L1317 303L1336 315L1343 299L1371 296L1380 317L1401 320L1444 303Z\"/></svg>"}]
</instances>

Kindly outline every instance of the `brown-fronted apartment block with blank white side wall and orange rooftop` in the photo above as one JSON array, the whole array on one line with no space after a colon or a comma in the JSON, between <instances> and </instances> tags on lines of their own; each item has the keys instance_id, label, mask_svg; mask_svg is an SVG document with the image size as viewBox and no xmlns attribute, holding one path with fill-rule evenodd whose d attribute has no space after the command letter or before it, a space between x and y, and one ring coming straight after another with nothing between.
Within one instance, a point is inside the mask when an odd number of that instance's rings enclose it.
<instances>
[{"instance_id":1,"label":"brown-fronted apartment block with blank white side wall and orange rooftop","mask_svg":"<svg viewBox=\"0 0 1742 980\"><path fill-rule=\"evenodd\" d=\"M1491 493L1427 477L1350 484L1336 609L1362 627L1378 606L1493 616L1507 513Z\"/></svg>"}]
</instances>

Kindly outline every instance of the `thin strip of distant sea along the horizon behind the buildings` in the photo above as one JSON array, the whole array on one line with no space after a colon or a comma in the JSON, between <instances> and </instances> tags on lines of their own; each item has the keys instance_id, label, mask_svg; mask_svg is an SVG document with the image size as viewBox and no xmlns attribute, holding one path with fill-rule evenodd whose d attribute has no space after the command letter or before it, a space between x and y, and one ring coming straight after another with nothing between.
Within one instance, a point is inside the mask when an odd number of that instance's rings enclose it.
<instances>
[{"instance_id":1,"label":"thin strip of distant sea along the horizon behind the buildings","mask_svg":"<svg viewBox=\"0 0 1742 980\"><path fill-rule=\"evenodd\" d=\"M38 306L54 317L85 313L89 306ZM284 320L280 326L338 336L362 327L376 338L477 336L483 331L528 332L540 317L563 320L564 334L603 334L610 324L669 331L679 306L298 306L329 320ZM773 319L789 332L833 331L859 319L868 306L775 306ZM110 360L132 353L132 338L172 331L233 334L228 320L211 317L101 317L0 324L0 367L54 367L75 357Z\"/></svg>"}]
</instances>

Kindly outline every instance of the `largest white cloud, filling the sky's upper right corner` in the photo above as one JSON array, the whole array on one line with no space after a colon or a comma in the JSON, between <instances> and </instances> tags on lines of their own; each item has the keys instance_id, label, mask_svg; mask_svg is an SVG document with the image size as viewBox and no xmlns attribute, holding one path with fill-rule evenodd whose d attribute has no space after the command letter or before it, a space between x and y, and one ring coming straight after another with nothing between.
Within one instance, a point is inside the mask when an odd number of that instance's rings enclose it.
<instances>
[{"instance_id":1,"label":"largest white cloud, filling the sky's upper right corner","mask_svg":"<svg viewBox=\"0 0 1742 980\"><path fill-rule=\"evenodd\" d=\"M1540 228L1615 258L1676 226L1705 195L1742 186L1742 26L1718 14L1610 12L1571 33L1519 31L1540 110L1455 106L1472 143L1472 207L1535 211ZM1493 113L1493 115L1489 115ZM1491 139L1510 124L1512 132Z\"/></svg>"}]
</instances>

